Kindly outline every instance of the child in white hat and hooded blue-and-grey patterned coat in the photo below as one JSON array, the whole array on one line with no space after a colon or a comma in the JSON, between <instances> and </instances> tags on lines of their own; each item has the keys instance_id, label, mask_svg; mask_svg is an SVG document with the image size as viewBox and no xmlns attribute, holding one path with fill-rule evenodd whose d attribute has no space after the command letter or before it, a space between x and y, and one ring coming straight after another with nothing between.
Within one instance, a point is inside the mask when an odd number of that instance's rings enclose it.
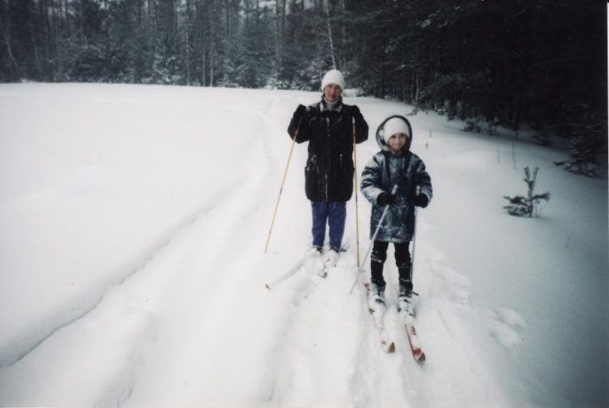
<instances>
[{"instance_id":1,"label":"child in white hat and hooded blue-and-grey patterned coat","mask_svg":"<svg viewBox=\"0 0 609 408\"><path fill-rule=\"evenodd\" d=\"M370 308L384 307L383 264L389 243L395 248L399 271L399 309L412 315L412 260L408 246L415 230L415 205L426 207L431 200L431 177L419 156L410 151L412 127L404 116L390 116L376 130L381 151L372 157L361 175L361 192L372 204L370 239L382 218L370 257ZM398 186L392 195L393 186Z\"/></svg>"}]
</instances>

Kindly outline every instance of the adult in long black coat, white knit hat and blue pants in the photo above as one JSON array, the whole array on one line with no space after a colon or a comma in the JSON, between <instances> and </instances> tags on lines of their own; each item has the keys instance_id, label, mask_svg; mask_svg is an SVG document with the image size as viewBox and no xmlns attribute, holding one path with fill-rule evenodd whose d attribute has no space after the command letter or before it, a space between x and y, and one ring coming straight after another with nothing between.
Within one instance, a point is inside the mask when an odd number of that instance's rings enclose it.
<instances>
[{"instance_id":1,"label":"adult in long black coat, white knit hat and blue pants","mask_svg":"<svg viewBox=\"0 0 609 408\"><path fill-rule=\"evenodd\" d=\"M321 81L321 100L299 105L289 123L289 136L309 142L305 194L312 207L312 246L324 251L329 227L327 262L336 261L346 220L346 202L353 194L353 138L368 140L368 124L355 105L343 102L343 74L332 69ZM355 133L355 134L353 134Z\"/></svg>"}]
</instances>

